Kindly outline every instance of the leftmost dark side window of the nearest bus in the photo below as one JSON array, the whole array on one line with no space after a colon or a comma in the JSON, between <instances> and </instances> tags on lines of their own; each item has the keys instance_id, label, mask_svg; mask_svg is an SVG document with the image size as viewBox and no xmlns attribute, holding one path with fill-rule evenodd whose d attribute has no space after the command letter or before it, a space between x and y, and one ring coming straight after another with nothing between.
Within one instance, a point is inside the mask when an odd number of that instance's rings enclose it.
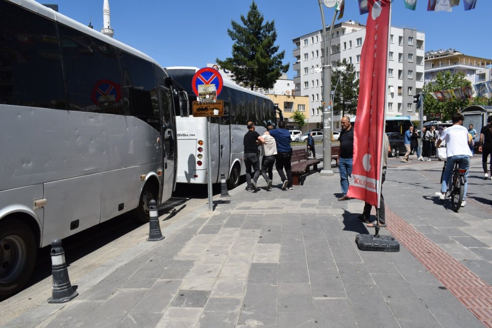
<instances>
[{"instance_id":1,"label":"leftmost dark side window of the nearest bus","mask_svg":"<svg viewBox=\"0 0 492 328\"><path fill-rule=\"evenodd\" d=\"M56 23L0 1L0 103L66 109Z\"/></svg>"}]
</instances>

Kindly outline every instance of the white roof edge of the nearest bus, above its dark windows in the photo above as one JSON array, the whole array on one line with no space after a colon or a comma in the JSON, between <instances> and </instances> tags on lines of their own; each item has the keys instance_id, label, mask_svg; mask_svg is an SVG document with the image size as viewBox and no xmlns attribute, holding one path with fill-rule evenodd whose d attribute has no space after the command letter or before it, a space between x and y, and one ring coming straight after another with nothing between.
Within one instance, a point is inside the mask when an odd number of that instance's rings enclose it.
<instances>
[{"instance_id":1,"label":"white roof edge of the nearest bus, above its dark windows","mask_svg":"<svg viewBox=\"0 0 492 328\"><path fill-rule=\"evenodd\" d=\"M56 12L55 10L48 8L39 2L33 1L33 0L7 0L12 3L18 4L24 8L27 8L31 10L32 12L35 12L39 15L45 16L49 19L52 19L54 21L57 21L63 25L66 25L68 27L71 27L73 29L76 29L77 31L81 31L83 33L86 33L88 35L91 35L95 38L98 38L106 43L109 43L111 45L114 45L117 48L120 48L126 52L129 52L137 57L141 57L149 62L154 63L157 66L160 66L154 59L149 57L148 55L144 54L143 52L130 47L129 45L124 44L123 42L120 42L118 40L115 40L112 37L109 37L107 35L104 35L103 33L100 33L94 29L91 29L88 26L85 26L84 24L81 24L70 17L67 17L59 12Z\"/></svg>"}]
</instances>

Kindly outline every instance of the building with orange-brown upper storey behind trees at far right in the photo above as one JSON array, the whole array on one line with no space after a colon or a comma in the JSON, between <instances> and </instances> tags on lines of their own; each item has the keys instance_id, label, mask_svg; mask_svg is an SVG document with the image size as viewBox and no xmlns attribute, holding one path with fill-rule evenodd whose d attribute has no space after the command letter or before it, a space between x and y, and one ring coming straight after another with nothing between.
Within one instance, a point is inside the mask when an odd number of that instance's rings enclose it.
<instances>
[{"instance_id":1,"label":"building with orange-brown upper storey behind trees at far right","mask_svg":"<svg viewBox=\"0 0 492 328\"><path fill-rule=\"evenodd\" d=\"M492 60L462 54L455 49L431 50L425 53L425 83L433 83L438 72L463 72L471 84L492 80Z\"/></svg>"}]
</instances>

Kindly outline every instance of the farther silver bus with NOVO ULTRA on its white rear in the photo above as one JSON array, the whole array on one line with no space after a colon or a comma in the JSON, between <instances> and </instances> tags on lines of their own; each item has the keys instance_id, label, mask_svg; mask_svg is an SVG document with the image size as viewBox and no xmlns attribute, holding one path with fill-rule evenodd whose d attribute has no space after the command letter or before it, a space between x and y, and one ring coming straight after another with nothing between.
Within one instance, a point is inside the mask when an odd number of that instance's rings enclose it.
<instances>
[{"instance_id":1,"label":"farther silver bus with NOVO ULTRA on its white rear","mask_svg":"<svg viewBox=\"0 0 492 328\"><path fill-rule=\"evenodd\" d=\"M176 80L189 97L188 108L194 96L191 86L197 67L166 67L165 71ZM191 97L193 95L193 97ZM253 121L256 131L262 134L269 125L277 125L273 101L265 95L245 89L234 82L224 79L218 100L224 101L224 116L211 118L211 149L207 153L207 118L193 117L184 113L176 118L178 136L178 175L177 183L206 184L207 156L211 156L212 183L220 182L224 173L229 188L239 184L241 175L246 174L243 163L243 138L247 132L246 123Z\"/></svg>"}]
</instances>

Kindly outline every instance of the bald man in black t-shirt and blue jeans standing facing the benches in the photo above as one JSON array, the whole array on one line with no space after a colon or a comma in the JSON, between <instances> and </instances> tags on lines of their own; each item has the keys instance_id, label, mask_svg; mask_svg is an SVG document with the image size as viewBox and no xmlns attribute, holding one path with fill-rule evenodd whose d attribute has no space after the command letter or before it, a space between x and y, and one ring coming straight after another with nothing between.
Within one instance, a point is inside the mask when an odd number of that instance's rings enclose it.
<instances>
[{"instance_id":1,"label":"bald man in black t-shirt and blue jeans standing facing the benches","mask_svg":"<svg viewBox=\"0 0 492 328\"><path fill-rule=\"evenodd\" d=\"M341 118L341 131L338 137L340 142L340 150L338 152L338 172L340 174L340 186L342 197L338 200L347 200L348 192L348 177L352 177L352 160L354 157L354 129L350 124L348 116Z\"/></svg>"}]
</instances>

